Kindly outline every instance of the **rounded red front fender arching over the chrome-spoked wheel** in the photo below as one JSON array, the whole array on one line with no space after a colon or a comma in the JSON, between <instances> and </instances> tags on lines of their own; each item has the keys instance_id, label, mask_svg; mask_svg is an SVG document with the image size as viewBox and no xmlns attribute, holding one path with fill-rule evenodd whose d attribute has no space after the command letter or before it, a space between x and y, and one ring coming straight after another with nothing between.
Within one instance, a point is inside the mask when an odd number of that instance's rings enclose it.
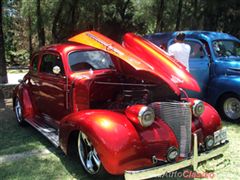
<instances>
[{"instance_id":1,"label":"rounded red front fender arching over the chrome-spoked wheel","mask_svg":"<svg viewBox=\"0 0 240 180\"><path fill-rule=\"evenodd\" d=\"M124 171L124 164L119 163L135 153L137 143L140 142L136 129L123 114L86 110L72 113L61 120L59 141L66 154L76 154L76 149L70 148L77 145L79 131L88 136L110 174L121 174Z\"/></svg>"}]
</instances>

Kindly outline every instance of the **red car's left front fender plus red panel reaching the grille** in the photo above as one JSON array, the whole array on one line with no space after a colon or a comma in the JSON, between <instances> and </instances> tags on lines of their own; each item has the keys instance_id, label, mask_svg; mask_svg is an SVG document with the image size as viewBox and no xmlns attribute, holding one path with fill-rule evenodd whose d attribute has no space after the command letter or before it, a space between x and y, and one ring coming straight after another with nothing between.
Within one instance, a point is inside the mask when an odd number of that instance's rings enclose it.
<instances>
[{"instance_id":1,"label":"red car's left front fender plus red panel reaching the grille","mask_svg":"<svg viewBox=\"0 0 240 180\"><path fill-rule=\"evenodd\" d=\"M65 117L60 124L60 145L67 153L71 132L84 132L93 143L110 174L152 165L152 156L166 160L170 146L178 147L172 130L161 120L149 129L134 127L124 114L107 110L84 110Z\"/></svg>"}]
</instances>

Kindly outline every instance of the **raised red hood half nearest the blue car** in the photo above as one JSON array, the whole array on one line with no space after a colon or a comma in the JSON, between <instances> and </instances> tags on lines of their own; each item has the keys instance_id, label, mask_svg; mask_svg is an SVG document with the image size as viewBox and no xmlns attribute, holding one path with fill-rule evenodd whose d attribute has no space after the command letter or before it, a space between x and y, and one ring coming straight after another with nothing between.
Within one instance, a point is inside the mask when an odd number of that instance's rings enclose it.
<instances>
[{"instance_id":1,"label":"raised red hood half nearest the blue car","mask_svg":"<svg viewBox=\"0 0 240 180\"><path fill-rule=\"evenodd\" d=\"M144 59L154 71L161 73L166 79L171 80L179 88L200 92L200 87L192 75L172 57L150 41L133 33L123 37L123 46L141 59Z\"/></svg>"}]
</instances>

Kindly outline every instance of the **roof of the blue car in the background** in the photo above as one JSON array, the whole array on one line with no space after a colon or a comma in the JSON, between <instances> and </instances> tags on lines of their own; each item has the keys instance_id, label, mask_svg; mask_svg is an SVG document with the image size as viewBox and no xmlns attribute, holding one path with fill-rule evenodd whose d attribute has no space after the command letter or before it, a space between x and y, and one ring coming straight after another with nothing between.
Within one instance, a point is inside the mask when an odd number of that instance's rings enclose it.
<instances>
[{"instance_id":1,"label":"roof of the blue car in the background","mask_svg":"<svg viewBox=\"0 0 240 180\"><path fill-rule=\"evenodd\" d=\"M231 40L236 40L239 41L236 37L223 33L223 32L213 32L213 31L176 31L176 32L162 32L162 33L155 33L155 34L150 34L146 35L145 37L147 39L156 39L156 38L161 38L161 39L170 39L174 38L177 33L183 32L186 34L186 38L194 38L194 39L203 39L206 41L214 41L218 39L231 39Z\"/></svg>"}]
</instances>

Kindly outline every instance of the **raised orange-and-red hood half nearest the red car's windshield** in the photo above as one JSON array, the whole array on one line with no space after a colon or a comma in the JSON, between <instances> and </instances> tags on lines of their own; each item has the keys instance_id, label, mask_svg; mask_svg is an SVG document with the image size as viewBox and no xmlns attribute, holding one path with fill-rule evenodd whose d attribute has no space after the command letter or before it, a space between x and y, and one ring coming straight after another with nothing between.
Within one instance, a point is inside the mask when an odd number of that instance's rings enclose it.
<instances>
[{"instance_id":1,"label":"raised orange-and-red hood half nearest the red car's windshield","mask_svg":"<svg viewBox=\"0 0 240 180\"><path fill-rule=\"evenodd\" d=\"M180 90L176 86L175 81L169 78L169 76L166 76L166 73L159 71L159 69L156 70L152 64L149 64L149 62L136 56L131 51L128 51L126 48L122 47L120 44L114 42L113 40L103 36L98 32L84 32L70 38L69 41L92 46L108 52L116 57L119 57L122 61L126 62L134 69L129 69L126 67L126 65L122 64L123 67L121 69L118 69L118 71L130 74L135 77L141 77L142 79L148 81L154 81L155 83L164 82L176 94L180 94Z\"/></svg>"}]
</instances>

